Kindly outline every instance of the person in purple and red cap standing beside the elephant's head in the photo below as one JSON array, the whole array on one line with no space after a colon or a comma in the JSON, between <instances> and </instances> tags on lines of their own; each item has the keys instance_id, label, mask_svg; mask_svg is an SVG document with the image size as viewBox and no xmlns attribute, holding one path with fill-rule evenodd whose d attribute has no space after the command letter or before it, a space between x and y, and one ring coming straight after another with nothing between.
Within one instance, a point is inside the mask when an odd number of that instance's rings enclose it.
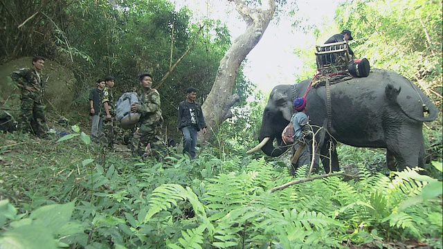
<instances>
[{"instance_id":1,"label":"person in purple and red cap standing beside the elephant's head","mask_svg":"<svg viewBox=\"0 0 443 249\"><path fill-rule=\"evenodd\" d=\"M305 98L296 98L293 102L293 114L291 122L295 130L294 140L296 143L293 147L293 157L291 160L291 175L294 175L296 169L301 165L311 165L311 147L305 138L309 138L311 129L309 127L309 118L306 115L307 104Z\"/></svg>"}]
</instances>

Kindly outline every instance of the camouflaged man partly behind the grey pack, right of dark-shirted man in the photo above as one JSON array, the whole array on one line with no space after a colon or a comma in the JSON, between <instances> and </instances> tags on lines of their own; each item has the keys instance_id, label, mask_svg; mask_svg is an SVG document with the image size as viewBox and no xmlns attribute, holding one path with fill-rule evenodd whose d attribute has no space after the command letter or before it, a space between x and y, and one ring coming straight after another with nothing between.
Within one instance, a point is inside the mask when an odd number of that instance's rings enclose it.
<instances>
[{"instance_id":1,"label":"camouflaged man partly behind the grey pack, right of dark-shirted man","mask_svg":"<svg viewBox=\"0 0 443 249\"><path fill-rule=\"evenodd\" d=\"M100 115L102 116L102 145L110 149L114 148L114 127L116 125L116 113L114 109L114 98L112 88L114 87L114 77L107 76L105 78L105 89L100 93L102 102Z\"/></svg>"}]
</instances>

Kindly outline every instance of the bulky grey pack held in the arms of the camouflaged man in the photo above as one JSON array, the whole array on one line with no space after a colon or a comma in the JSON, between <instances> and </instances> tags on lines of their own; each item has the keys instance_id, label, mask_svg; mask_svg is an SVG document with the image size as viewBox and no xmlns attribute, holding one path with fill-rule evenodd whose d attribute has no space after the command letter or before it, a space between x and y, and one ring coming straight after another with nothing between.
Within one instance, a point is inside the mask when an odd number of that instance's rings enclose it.
<instances>
[{"instance_id":1,"label":"bulky grey pack held in the arms of the camouflaged man","mask_svg":"<svg viewBox=\"0 0 443 249\"><path fill-rule=\"evenodd\" d=\"M116 102L116 120L122 129L132 129L140 120L140 113L132 113L131 105L138 104L137 93L123 93Z\"/></svg>"}]
</instances>

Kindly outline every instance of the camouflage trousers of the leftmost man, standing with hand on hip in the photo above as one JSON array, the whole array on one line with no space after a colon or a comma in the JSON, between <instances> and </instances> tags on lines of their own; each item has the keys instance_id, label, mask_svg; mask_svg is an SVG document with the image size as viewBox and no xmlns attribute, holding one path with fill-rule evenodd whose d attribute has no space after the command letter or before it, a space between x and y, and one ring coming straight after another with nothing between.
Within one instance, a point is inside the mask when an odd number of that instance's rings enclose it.
<instances>
[{"instance_id":1,"label":"camouflage trousers of the leftmost man, standing with hand on hip","mask_svg":"<svg viewBox=\"0 0 443 249\"><path fill-rule=\"evenodd\" d=\"M44 105L31 98L21 98L19 130L39 137L48 136Z\"/></svg>"}]
</instances>

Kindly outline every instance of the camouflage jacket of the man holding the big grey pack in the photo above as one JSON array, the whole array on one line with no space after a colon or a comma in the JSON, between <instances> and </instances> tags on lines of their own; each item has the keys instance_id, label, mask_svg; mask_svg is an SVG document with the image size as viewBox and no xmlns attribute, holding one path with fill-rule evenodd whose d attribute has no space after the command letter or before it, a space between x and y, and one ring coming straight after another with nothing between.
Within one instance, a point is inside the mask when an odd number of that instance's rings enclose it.
<instances>
[{"instance_id":1,"label":"camouflage jacket of the man holding the big grey pack","mask_svg":"<svg viewBox=\"0 0 443 249\"><path fill-rule=\"evenodd\" d=\"M138 113L141 114L139 123L141 124L162 124L160 94L156 89L150 89L138 94L140 104L138 104Z\"/></svg>"}]
</instances>

